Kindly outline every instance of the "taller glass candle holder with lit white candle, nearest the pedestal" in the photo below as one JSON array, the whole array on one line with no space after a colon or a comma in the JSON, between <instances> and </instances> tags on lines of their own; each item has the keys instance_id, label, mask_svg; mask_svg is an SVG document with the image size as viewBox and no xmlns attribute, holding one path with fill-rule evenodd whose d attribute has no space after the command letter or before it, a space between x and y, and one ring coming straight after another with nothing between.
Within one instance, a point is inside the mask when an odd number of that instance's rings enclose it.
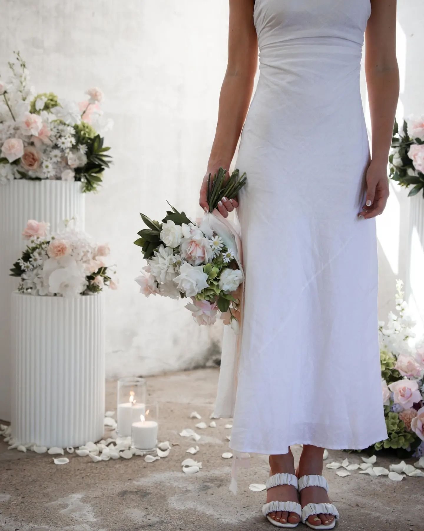
<instances>
[{"instance_id":1,"label":"taller glass candle holder with lit white candle, nearest the pedestal","mask_svg":"<svg viewBox=\"0 0 424 531\"><path fill-rule=\"evenodd\" d=\"M120 378L118 380L117 432L121 437L131 435L131 424L146 412L146 380Z\"/></svg>"}]
</instances>

